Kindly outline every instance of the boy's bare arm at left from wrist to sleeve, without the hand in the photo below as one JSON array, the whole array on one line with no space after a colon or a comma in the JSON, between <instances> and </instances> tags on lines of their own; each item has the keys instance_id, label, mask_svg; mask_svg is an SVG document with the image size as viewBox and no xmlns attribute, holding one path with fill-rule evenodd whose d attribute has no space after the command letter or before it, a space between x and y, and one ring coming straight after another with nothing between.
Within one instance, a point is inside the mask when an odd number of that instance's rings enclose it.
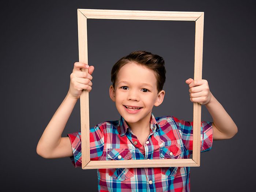
<instances>
[{"instance_id":1,"label":"boy's bare arm at left from wrist to sleeve, without the hand","mask_svg":"<svg viewBox=\"0 0 256 192\"><path fill-rule=\"evenodd\" d=\"M44 158L61 158L73 155L69 138L61 138L61 134L77 100L71 97L69 93L66 95L37 144L38 155Z\"/></svg>"}]
</instances>

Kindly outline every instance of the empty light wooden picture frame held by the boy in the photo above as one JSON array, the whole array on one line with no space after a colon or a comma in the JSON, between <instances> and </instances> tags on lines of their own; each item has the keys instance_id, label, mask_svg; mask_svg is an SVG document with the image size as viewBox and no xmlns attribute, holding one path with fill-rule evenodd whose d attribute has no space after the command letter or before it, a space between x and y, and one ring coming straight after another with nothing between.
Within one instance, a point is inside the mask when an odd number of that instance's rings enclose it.
<instances>
[{"instance_id":1,"label":"empty light wooden picture frame held by the boy","mask_svg":"<svg viewBox=\"0 0 256 192\"><path fill-rule=\"evenodd\" d=\"M202 79L204 12L136 11L78 9L79 62L88 64L87 19L139 19L195 21L194 80ZM82 68L88 72L88 69ZM193 102L193 153L192 159L139 159L121 161L90 161L89 92L80 96L82 169L130 167L200 166L201 104Z\"/></svg>"}]
</instances>

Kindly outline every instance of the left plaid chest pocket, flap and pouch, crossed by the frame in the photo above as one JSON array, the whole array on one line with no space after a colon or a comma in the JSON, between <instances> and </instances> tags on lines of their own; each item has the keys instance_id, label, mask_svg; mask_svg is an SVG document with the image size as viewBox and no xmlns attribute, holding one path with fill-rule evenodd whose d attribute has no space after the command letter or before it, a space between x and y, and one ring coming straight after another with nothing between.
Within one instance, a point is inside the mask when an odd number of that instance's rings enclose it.
<instances>
[{"instance_id":1,"label":"left plaid chest pocket, flap and pouch, crossed by the frame","mask_svg":"<svg viewBox=\"0 0 256 192\"><path fill-rule=\"evenodd\" d=\"M109 148L108 159L113 161L132 159L131 148ZM110 168L109 176L124 181L134 176L134 168Z\"/></svg>"}]
</instances>

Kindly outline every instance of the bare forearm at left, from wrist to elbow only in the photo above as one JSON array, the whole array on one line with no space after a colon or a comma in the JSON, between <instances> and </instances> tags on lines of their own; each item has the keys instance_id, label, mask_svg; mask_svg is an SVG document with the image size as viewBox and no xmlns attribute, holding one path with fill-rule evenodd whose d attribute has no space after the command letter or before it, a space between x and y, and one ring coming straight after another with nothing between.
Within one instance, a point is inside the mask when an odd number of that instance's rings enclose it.
<instances>
[{"instance_id":1,"label":"bare forearm at left, from wrist to elbow only","mask_svg":"<svg viewBox=\"0 0 256 192\"><path fill-rule=\"evenodd\" d=\"M70 114L74 109L77 99L66 95L63 102L54 113L52 119L45 128L38 144L37 153L47 156L56 148L61 140L61 134L67 124Z\"/></svg>"}]
</instances>

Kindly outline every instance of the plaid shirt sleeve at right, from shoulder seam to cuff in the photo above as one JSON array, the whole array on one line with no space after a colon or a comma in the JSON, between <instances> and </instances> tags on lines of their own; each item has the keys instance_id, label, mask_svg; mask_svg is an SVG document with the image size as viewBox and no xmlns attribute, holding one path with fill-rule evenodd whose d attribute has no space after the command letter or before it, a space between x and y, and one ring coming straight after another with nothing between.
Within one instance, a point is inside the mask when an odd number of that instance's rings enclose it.
<instances>
[{"instance_id":1,"label":"plaid shirt sleeve at right, from shoulder seam to cuff","mask_svg":"<svg viewBox=\"0 0 256 192\"><path fill-rule=\"evenodd\" d=\"M172 116L173 117L173 116ZM182 142L185 144L189 154L193 152L193 121L179 120L173 117L177 128L180 132ZM212 148L212 122L201 121L200 126L201 140L200 140L200 152L210 151Z\"/></svg>"}]
</instances>

